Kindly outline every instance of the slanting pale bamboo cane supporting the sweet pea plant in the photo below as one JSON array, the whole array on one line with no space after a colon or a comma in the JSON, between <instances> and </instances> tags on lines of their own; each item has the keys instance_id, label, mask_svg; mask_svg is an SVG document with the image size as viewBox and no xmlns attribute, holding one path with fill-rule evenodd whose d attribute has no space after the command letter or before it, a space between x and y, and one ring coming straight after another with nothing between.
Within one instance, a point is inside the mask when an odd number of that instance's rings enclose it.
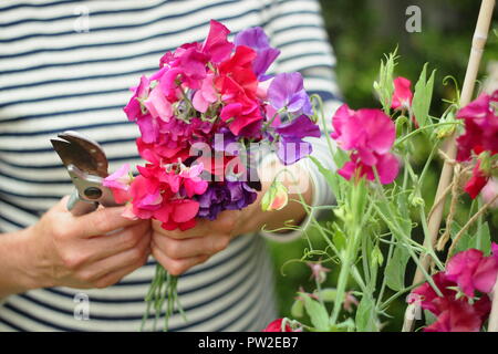
<instances>
[{"instance_id":1,"label":"slanting pale bamboo cane supporting the sweet pea plant","mask_svg":"<svg viewBox=\"0 0 498 354\"><path fill-rule=\"evenodd\" d=\"M467 66L467 72L465 75L464 87L461 88L461 97L460 97L460 106L466 106L470 103L474 88L477 80L477 73L479 71L480 60L483 58L484 48L486 45L486 41L488 39L489 28L491 24L492 10L495 8L496 0L483 0L479 18L477 20L476 31L474 33L473 46L470 51L470 58ZM456 134L450 136L447 142L446 155L449 159L455 159L457 155L457 145L456 145ZM439 178L439 185L437 186L436 198L438 200L443 192L447 189L449 184L452 183L453 177L453 166L445 162L443 166L443 170ZM424 246L428 249L434 248L437 237L439 233L440 221L443 219L445 202L440 202L434 209L430 218L428 220L428 236L424 240ZM421 256L421 263L427 270L430 263L430 258L428 254ZM413 284L417 284L424 281L424 274L422 269L417 269L415 273L415 278ZM498 306L498 304L497 304ZM409 311L409 309L408 309ZM498 310L497 310L498 311ZM405 321L403 324L403 332L413 331L413 326L415 324L415 319L411 316L408 313L405 313Z\"/></svg>"}]
</instances>

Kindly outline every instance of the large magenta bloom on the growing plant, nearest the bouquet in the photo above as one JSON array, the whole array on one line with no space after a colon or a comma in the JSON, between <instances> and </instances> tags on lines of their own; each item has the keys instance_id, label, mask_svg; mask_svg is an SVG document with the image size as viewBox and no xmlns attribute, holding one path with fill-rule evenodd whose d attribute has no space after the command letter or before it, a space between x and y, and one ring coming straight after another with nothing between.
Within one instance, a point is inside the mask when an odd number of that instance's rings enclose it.
<instances>
[{"instance_id":1,"label":"large magenta bloom on the growing plant, nearest the bouquet","mask_svg":"<svg viewBox=\"0 0 498 354\"><path fill-rule=\"evenodd\" d=\"M394 181L400 170L397 158L390 153L396 132L391 118L380 110L357 112L342 105L332 118L334 132L331 134L344 150L353 150L351 162L339 174L350 180L366 177L375 180L374 167L384 185Z\"/></svg>"}]
</instances>

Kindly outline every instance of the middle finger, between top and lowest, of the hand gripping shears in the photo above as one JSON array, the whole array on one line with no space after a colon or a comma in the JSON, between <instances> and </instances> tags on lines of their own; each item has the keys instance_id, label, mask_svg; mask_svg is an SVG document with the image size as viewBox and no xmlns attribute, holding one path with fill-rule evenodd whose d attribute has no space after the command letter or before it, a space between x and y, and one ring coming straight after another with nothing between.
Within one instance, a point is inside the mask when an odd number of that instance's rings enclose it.
<instances>
[{"instance_id":1,"label":"middle finger, between top and lowest, of the hand gripping shears","mask_svg":"<svg viewBox=\"0 0 498 354\"><path fill-rule=\"evenodd\" d=\"M83 240L86 251L95 262L135 248L144 238L151 240L151 222L142 221L113 235L103 235Z\"/></svg>"}]
</instances>

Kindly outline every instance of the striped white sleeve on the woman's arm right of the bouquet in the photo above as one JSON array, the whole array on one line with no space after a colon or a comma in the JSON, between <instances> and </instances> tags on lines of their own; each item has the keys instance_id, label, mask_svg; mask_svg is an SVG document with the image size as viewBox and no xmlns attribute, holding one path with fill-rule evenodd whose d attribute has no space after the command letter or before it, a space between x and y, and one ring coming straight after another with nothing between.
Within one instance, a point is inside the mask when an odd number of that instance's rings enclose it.
<instances>
[{"instance_id":1,"label":"striped white sleeve on the woman's arm right of the bouquet","mask_svg":"<svg viewBox=\"0 0 498 354\"><path fill-rule=\"evenodd\" d=\"M270 34L272 45L281 50L273 71L276 73L300 72L303 75L308 93L320 95L324 102L324 115L330 131L331 117L342 104L342 98L334 73L335 56L324 29L320 2L318 0L276 0L268 13L264 30ZM321 122L320 127L322 128ZM320 160L325 168L336 170L325 132L322 131L320 138L307 140L313 146L311 156ZM333 205L333 192L313 162L304 158L298 164L309 173L312 183L311 207ZM318 210L312 210L312 217L318 217ZM310 226L310 221L311 217L308 216L299 229L290 232L261 231L260 233L266 238L286 242L299 238Z\"/></svg>"}]
</instances>

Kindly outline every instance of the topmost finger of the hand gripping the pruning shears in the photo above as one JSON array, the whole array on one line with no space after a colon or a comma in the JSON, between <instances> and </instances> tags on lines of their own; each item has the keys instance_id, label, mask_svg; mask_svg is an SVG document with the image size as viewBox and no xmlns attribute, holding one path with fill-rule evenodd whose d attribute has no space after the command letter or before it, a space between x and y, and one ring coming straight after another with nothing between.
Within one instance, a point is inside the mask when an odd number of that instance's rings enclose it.
<instances>
[{"instance_id":1,"label":"topmost finger of the hand gripping the pruning shears","mask_svg":"<svg viewBox=\"0 0 498 354\"><path fill-rule=\"evenodd\" d=\"M124 218L122 216L125 207L104 208L80 217L71 216L69 221L71 227L77 230L76 232L83 238L105 235L142 221ZM68 215L70 214L68 212Z\"/></svg>"}]
</instances>

